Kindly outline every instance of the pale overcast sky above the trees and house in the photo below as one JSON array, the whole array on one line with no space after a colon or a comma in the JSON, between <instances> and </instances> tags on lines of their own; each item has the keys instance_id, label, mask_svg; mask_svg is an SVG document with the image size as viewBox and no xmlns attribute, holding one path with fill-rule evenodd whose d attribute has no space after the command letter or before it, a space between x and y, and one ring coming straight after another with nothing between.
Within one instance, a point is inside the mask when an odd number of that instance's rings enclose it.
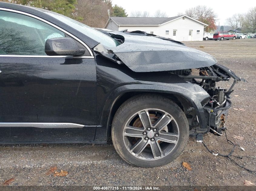
<instances>
[{"instance_id":1,"label":"pale overcast sky above the trees and house","mask_svg":"<svg viewBox=\"0 0 256 191\"><path fill-rule=\"evenodd\" d=\"M224 2L223 6L221 3ZM165 11L168 17L174 17L178 12L185 13L188 8L195 7L197 5L206 5L207 7L213 8L214 12L218 15L217 19L220 25L226 24L226 19L231 17L235 13L246 13L249 8L256 6L256 1L243 1L243 0L227 0L225 1L188 1L188 0L112 0L112 4L119 5L125 8L126 12L131 14L131 11L148 11L150 14L154 14L156 10L160 9ZM214 6L212 5L214 4ZM216 24L218 25L218 21Z\"/></svg>"}]
</instances>

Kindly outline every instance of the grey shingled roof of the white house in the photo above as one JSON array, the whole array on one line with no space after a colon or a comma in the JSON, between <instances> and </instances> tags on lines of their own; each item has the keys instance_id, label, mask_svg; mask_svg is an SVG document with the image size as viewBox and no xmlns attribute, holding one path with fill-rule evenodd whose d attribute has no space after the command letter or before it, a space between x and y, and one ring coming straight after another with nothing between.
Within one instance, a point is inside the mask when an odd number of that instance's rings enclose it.
<instances>
[{"instance_id":1,"label":"grey shingled roof of the white house","mask_svg":"<svg viewBox=\"0 0 256 191\"><path fill-rule=\"evenodd\" d=\"M187 15L180 15L176 17L169 17L169 18L156 18L156 17L111 17L111 20L115 22L118 26L120 25L139 25L139 26L159 26L163 25L165 23L174 21L178 18L187 17L191 20L194 20L198 23L201 23L205 26L208 26L207 24L204 24L198 20L195 20L191 17L188 17ZM109 22L109 20L108 20ZM105 27L107 26L108 22L106 23Z\"/></svg>"}]
</instances>

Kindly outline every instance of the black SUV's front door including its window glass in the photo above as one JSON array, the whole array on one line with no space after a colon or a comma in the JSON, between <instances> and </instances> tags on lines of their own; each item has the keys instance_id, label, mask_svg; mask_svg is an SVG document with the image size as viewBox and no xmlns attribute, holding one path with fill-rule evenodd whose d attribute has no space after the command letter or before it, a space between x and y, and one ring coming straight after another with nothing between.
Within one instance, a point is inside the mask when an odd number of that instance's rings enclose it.
<instances>
[{"instance_id":1,"label":"black SUV's front door including its window glass","mask_svg":"<svg viewBox=\"0 0 256 191\"><path fill-rule=\"evenodd\" d=\"M47 56L48 38L69 36L14 12L0 11L0 31L0 123L96 124L96 68L90 50L76 57Z\"/></svg>"}]
</instances>

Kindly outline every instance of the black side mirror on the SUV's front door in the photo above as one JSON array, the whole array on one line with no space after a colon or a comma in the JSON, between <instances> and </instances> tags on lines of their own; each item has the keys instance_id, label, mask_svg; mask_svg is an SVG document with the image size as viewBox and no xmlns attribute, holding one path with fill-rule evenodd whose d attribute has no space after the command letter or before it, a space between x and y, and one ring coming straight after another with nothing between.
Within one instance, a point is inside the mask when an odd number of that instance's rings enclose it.
<instances>
[{"instance_id":1,"label":"black side mirror on the SUV's front door","mask_svg":"<svg viewBox=\"0 0 256 191\"><path fill-rule=\"evenodd\" d=\"M85 49L79 48L71 38L50 38L45 42L45 53L48 56L83 55Z\"/></svg>"}]
</instances>

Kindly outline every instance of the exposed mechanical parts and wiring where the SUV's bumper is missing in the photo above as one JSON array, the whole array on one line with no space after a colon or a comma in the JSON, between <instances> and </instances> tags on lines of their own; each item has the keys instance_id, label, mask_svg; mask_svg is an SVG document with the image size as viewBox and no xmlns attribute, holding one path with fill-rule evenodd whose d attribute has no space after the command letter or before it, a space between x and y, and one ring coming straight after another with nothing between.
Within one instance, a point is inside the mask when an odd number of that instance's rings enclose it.
<instances>
[{"instance_id":1,"label":"exposed mechanical parts and wiring where the SUV's bumper is missing","mask_svg":"<svg viewBox=\"0 0 256 191\"><path fill-rule=\"evenodd\" d=\"M220 64L198 68L198 71L199 75L191 75L191 73L195 73L195 71L191 72L191 69L181 72L181 75L178 74L179 77L184 80L201 86L211 97L208 103L205 103L203 106L203 118L208 122L208 128L200 127L196 116L193 124L190 126L190 134L202 135L211 131L215 135L222 135L222 131L226 129L225 121L228 116L228 109L232 105L229 95L234 91L234 85L238 81L245 80L239 78L230 69ZM178 71L170 72L177 73ZM230 88L224 89L216 87L216 82L228 81L231 78L233 78L234 81Z\"/></svg>"}]
</instances>

